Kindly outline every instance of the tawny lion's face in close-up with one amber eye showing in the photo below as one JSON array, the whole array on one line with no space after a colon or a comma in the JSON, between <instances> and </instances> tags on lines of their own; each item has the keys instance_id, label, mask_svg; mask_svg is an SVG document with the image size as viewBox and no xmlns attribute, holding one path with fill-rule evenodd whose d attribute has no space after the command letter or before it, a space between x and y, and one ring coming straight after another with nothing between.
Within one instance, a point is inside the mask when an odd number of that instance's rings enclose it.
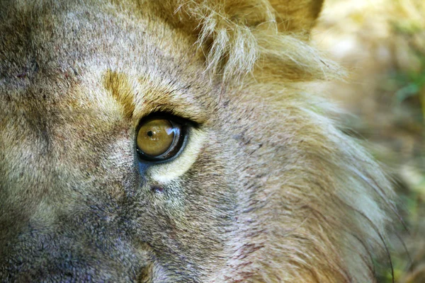
<instances>
[{"instance_id":1,"label":"tawny lion's face in close-up with one amber eye showing","mask_svg":"<svg viewBox=\"0 0 425 283\"><path fill-rule=\"evenodd\" d=\"M1 282L376 282L388 176L305 83L321 0L0 3Z\"/></svg>"}]
</instances>

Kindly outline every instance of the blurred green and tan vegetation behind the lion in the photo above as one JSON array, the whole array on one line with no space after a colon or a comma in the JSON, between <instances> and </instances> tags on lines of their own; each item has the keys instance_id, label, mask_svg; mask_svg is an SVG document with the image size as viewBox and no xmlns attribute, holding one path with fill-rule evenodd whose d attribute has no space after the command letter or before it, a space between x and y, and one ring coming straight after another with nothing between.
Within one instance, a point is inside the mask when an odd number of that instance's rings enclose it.
<instances>
[{"instance_id":1,"label":"blurred green and tan vegetation behind the lion","mask_svg":"<svg viewBox=\"0 0 425 283\"><path fill-rule=\"evenodd\" d=\"M328 93L348 127L397 183L400 223L390 236L397 283L425 282L425 0L327 0L312 34L350 75ZM397 222L396 222L397 223ZM389 262L377 270L392 282Z\"/></svg>"}]
</instances>

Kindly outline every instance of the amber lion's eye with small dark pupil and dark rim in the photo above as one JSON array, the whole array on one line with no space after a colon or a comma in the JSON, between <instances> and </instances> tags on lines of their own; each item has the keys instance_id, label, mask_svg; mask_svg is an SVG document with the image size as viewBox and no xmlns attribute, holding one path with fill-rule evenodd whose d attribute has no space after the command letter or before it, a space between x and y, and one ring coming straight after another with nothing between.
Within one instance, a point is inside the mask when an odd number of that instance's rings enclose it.
<instances>
[{"instance_id":1,"label":"amber lion's eye with small dark pupil and dark rim","mask_svg":"<svg viewBox=\"0 0 425 283\"><path fill-rule=\"evenodd\" d=\"M165 161L179 153L184 135L183 125L175 119L152 117L140 123L137 152L145 161Z\"/></svg>"}]
</instances>

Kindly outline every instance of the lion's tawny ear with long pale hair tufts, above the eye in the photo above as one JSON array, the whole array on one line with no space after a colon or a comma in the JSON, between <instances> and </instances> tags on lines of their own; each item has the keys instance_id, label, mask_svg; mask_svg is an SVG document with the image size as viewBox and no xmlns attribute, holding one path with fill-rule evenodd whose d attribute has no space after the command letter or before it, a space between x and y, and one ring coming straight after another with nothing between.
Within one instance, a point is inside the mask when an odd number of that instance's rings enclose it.
<instances>
[{"instance_id":1,"label":"lion's tawny ear with long pale hair tufts, above the eye","mask_svg":"<svg viewBox=\"0 0 425 283\"><path fill-rule=\"evenodd\" d=\"M170 0L159 4L168 21L196 35L206 69L226 81L246 74L284 81L335 79L344 71L295 33L264 0Z\"/></svg>"}]
</instances>

